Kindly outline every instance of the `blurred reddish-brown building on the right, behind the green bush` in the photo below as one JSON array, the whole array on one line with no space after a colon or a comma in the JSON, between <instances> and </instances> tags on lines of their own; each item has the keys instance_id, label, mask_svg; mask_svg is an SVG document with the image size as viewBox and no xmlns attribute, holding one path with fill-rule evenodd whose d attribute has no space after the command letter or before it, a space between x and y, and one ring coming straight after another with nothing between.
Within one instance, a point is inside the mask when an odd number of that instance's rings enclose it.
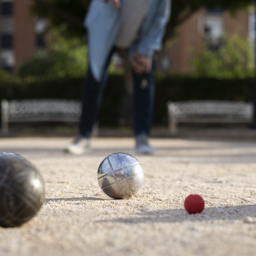
<instances>
[{"instance_id":1,"label":"blurred reddish-brown building on the right, behind the green bush","mask_svg":"<svg viewBox=\"0 0 256 256\"><path fill-rule=\"evenodd\" d=\"M252 44L255 40L254 9L235 14L221 10L201 9L177 29L176 37L159 53L157 69L175 73L188 73L191 49L202 48L207 42L211 49L218 49L224 35L238 34Z\"/></svg>"}]
</instances>

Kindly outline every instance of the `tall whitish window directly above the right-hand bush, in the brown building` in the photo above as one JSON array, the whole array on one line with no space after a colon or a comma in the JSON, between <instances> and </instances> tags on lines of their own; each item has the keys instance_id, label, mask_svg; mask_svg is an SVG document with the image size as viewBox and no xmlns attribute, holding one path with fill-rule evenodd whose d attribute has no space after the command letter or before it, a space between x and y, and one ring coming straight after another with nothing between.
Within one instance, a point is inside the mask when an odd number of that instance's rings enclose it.
<instances>
[{"instance_id":1,"label":"tall whitish window directly above the right-hand bush, in the brown building","mask_svg":"<svg viewBox=\"0 0 256 256\"><path fill-rule=\"evenodd\" d=\"M211 49L218 49L224 35L224 17L223 12L208 11L205 21L205 35L207 44Z\"/></svg>"}]
</instances>

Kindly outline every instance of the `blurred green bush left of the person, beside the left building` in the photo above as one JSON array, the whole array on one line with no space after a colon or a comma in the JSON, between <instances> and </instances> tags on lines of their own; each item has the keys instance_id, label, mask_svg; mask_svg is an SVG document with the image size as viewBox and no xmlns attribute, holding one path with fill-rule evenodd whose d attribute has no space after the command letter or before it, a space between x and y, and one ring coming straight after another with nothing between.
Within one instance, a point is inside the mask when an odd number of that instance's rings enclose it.
<instances>
[{"instance_id":1,"label":"blurred green bush left of the person, beside the left building","mask_svg":"<svg viewBox=\"0 0 256 256\"><path fill-rule=\"evenodd\" d=\"M84 76L86 65L84 42L80 38L64 38L59 31L52 31L46 49L38 51L23 64L18 75L29 81L78 77Z\"/></svg>"}]
</instances>

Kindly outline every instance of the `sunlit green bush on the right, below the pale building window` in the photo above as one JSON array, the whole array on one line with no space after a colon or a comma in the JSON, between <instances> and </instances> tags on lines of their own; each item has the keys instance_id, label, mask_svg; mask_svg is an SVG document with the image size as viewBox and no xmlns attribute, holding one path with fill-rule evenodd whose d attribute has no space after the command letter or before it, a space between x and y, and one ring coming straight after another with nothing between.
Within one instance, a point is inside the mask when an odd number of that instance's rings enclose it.
<instances>
[{"instance_id":1,"label":"sunlit green bush on the right, below the pale building window","mask_svg":"<svg viewBox=\"0 0 256 256\"><path fill-rule=\"evenodd\" d=\"M204 44L202 50L192 50L192 55L192 75L196 77L243 79L254 75L253 49L239 35L224 38L217 51Z\"/></svg>"}]
</instances>

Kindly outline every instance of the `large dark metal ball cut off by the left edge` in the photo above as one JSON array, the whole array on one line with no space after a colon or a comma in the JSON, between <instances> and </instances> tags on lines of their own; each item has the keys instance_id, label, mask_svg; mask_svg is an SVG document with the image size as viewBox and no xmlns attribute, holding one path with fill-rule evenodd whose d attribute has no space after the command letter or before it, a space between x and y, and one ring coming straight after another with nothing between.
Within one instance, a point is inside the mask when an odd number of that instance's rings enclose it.
<instances>
[{"instance_id":1,"label":"large dark metal ball cut off by the left edge","mask_svg":"<svg viewBox=\"0 0 256 256\"><path fill-rule=\"evenodd\" d=\"M44 179L32 163L16 153L0 153L0 226L16 227L29 221L44 196Z\"/></svg>"}]
</instances>

